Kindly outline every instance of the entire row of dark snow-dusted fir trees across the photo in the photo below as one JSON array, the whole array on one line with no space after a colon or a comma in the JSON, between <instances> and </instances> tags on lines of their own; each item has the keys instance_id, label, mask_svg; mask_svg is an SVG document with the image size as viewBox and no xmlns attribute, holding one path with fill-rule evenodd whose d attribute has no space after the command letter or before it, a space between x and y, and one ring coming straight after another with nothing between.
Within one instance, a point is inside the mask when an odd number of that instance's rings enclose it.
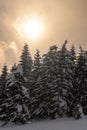
<instances>
[{"instance_id":1,"label":"entire row of dark snow-dusted fir trees across the photo","mask_svg":"<svg viewBox=\"0 0 87 130\"><path fill-rule=\"evenodd\" d=\"M25 124L30 120L73 117L87 114L87 51L75 47L50 46L34 60L24 44L20 61L0 75L0 121Z\"/></svg>"}]
</instances>

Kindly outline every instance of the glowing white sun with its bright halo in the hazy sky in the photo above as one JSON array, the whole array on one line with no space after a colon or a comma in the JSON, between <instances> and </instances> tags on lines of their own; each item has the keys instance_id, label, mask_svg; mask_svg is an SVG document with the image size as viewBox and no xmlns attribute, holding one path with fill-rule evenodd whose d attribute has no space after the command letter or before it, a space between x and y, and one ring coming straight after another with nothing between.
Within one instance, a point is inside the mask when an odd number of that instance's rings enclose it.
<instances>
[{"instance_id":1,"label":"glowing white sun with its bright halo in the hazy sky","mask_svg":"<svg viewBox=\"0 0 87 130\"><path fill-rule=\"evenodd\" d=\"M36 18L18 20L15 28L21 37L29 39L40 37L44 30L42 22Z\"/></svg>"}]
</instances>

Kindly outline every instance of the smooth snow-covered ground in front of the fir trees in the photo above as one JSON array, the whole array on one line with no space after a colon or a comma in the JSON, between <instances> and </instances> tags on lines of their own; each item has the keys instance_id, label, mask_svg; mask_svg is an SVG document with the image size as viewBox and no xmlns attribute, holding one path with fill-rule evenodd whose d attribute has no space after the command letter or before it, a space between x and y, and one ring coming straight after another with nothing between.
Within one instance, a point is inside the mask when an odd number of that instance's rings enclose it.
<instances>
[{"instance_id":1,"label":"smooth snow-covered ground in front of the fir trees","mask_svg":"<svg viewBox=\"0 0 87 130\"><path fill-rule=\"evenodd\" d=\"M87 130L87 119L57 119L35 121L22 126L5 126L0 130Z\"/></svg>"}]
</instances>

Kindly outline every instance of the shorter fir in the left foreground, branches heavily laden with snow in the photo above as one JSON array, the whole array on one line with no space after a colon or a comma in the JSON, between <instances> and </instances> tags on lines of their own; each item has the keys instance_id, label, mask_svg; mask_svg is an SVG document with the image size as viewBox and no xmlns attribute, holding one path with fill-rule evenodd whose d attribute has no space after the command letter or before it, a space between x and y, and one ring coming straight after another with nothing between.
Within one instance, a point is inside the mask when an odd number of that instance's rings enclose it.
<instances>
[{"instance_id":1,"label":"shorter fir in the left foreground, branches heavily laden with snow","mask_svg":"<svg viewBox=\"0 0 87 130\"><path fill-rule=\"evenodd\" d=\"M29 121L28 102L30 98L23 82L25 82L23 69L21 65L18 65L17 69L7 76L5 100L0 107L0 120L3 125L9 122L23 124Z\"/></svg>"}]
</instances>

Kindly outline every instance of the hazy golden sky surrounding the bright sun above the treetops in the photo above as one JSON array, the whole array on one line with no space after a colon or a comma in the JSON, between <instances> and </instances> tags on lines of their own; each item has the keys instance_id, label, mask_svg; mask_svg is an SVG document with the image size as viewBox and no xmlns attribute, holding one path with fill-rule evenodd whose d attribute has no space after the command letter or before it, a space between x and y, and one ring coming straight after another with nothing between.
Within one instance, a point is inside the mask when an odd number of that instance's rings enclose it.
<instances>
[{"instance_id":1,"label":"hazy golden sky surrounding the bright sun above the treetops","mask_svg":"<svg viewBox=\"0 0 87 130\"><path fill-rule=\"evenodd\" d=\"M21 37L14 26L31 17L44 28L36 39ZM52 44L60 47L66 39L68 47L87 49L87 0L0 0L0 69L18 61L24 42L33 55L37 48L43 54Z\"/></svg>"}]
</instances>

